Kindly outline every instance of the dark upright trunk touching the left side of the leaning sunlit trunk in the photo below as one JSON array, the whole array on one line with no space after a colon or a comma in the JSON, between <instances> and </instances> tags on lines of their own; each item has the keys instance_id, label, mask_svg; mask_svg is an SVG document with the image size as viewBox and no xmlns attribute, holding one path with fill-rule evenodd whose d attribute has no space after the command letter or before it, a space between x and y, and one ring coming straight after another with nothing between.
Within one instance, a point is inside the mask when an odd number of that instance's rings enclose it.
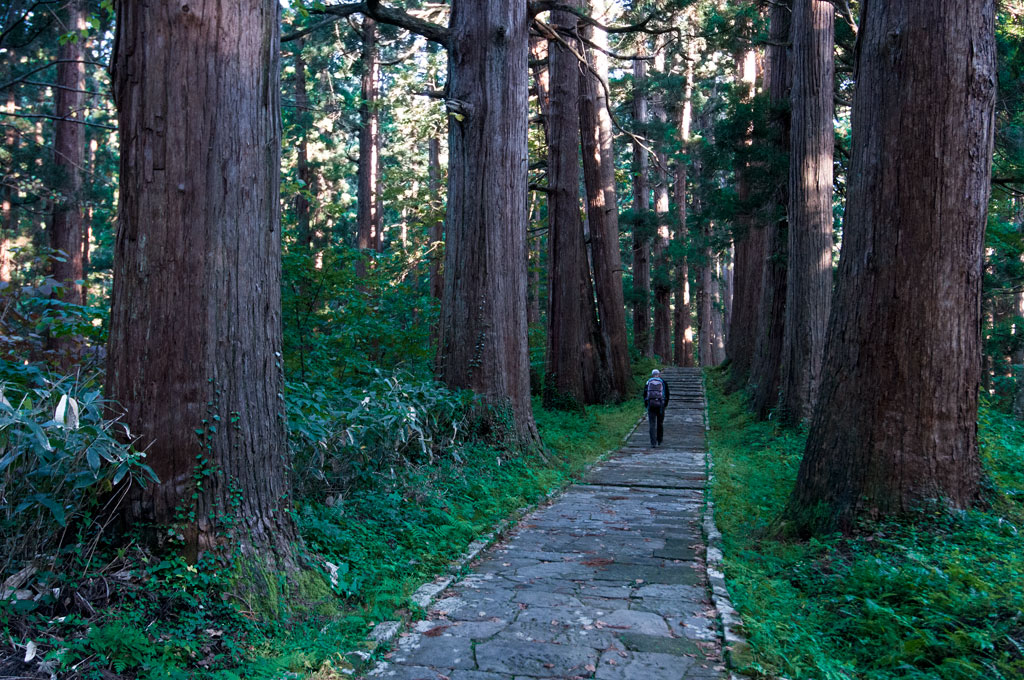
<instances>
[{"instance_id":1,"label":"dark upright trunk touching the left side of the leaning sunlit trunk","mask_svg":"<svg viewBox=\"0 0 1024 680\"><path fill-rule=\"evenodd\" d=\"M577 5L579 6L579 5ZM577 32L577 16L551 13L551 27ZM565 40L579 51L579 42ZM597 403L606 392L602 340L580 216L580 61L548 43L551 103L548 122L548 360L544 400Z\"/></svg>"}]
</instances>

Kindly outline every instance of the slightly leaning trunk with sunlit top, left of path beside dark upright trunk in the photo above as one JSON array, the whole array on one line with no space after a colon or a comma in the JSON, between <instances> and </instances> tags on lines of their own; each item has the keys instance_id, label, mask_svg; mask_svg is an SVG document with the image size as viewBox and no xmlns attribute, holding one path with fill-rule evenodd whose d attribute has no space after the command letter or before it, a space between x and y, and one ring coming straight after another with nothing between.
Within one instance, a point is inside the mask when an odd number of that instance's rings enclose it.
<instances>
[{"instance_id":1,"label":"slightly leaning trunk with sunlit top, left of path beside dark upright trunk","mask_svg":"<svg viewBox=\"0 0 1024 680\"><path fill-rule=\"evenodd\" d=\"M598 20L607 13L606 0L595 0L591 7L592 15ZM598 47L607 46L608 36L603 31L587 26L583 28L583 36ZM587 57L595 72L580 70L580 130L587 218L590 221L598 318L608 357L610 397L622 399L630 394L633 377L626 335L623 262L618 249L618 202L615 197L611 115L601 82L607 83L608 57L600 49L588 49Z\"/></svg>"}]
</instances>

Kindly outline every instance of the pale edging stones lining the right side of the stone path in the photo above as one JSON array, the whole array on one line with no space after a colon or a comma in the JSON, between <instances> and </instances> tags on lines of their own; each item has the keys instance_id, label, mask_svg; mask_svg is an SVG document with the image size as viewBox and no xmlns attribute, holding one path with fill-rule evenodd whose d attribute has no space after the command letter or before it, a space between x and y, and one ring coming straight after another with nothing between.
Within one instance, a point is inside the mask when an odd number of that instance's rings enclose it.
<instances>
[{"instance_id":1,"label":"pale edging stones lining the right side of the stone path","mask_svg":"<svg viewBox=\"0 0 1024 680\"><path fill-rule=\"evenodd\" d=\"M722 533L715 522L715 501L712 496L712 485L715 483L715 462L712 459L711 443L708 432L711 430L711 416L708 410L708 377L700 372L700 388L705 402L705 503L701 534L703 534L707 552L705 568L708 571L708 585L711 588L711 599L722 624L722 655L730 671L738 671L750 666L752 649L750 642L739 632L743 621L732 606L729 588L725 584L724 555L722 553ZM736 675L733 673L732 677Z\"/></svg>"}]
</instances>

